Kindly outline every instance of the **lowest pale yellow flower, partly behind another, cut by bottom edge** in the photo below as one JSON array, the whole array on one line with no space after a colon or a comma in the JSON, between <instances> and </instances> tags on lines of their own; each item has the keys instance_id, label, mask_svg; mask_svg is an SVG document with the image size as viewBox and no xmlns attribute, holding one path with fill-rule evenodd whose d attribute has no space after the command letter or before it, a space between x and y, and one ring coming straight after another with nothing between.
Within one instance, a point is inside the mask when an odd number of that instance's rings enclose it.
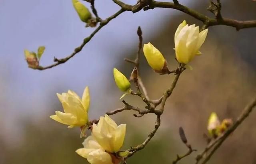
<instances>
[{"instance_id":1,"label":"lowest pale yellow flower, partly behind another, cut by bottom edge","mask_svg":"<svg viewBox=\"0 0 256 164\"><path fill-rule=\"evenodd\" d=\"M105 152L94 136L88 136L82 144L84 148L76 150L76 153L87 158L90 164L113 164L110 154Z\"/></svg>"}]
</instances>

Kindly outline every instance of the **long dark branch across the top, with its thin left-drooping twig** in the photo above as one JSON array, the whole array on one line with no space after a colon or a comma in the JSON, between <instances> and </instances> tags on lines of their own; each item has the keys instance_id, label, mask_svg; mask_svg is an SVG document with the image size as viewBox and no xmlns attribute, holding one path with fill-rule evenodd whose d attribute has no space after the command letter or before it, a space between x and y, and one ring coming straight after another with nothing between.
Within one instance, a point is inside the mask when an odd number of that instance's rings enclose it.
<instances>
[{"instance_id":1,"label":"long dark branch across the top, with its thin left-drooping twig","mask_svg":"<svg viewBox=\"0 0 256 164\"><path fill-rule=\"evenodd\" d=\"M69 55L65 58L62 58L62 59L54 58L54 62L56 62L56 63L54 63L52 65L45 66L45 67L38 66L33 69L45 70L45 69L50 69L52 67L56 67L57 65L60 65L62 63L65 63L70 58L74 57L74 55L76 55L78 52L80 52L82 50L82 48L86 45L86 43L88 43L102 27L104 27L106 24L108 24L108 22L110 22L112 19L116 18L117 16L119 16L121 13L123 13L125 11L132 11L133 13L135 13L135 12L139 12L142 8L145 11L149 10L149 9L154 9L154 8L172 8L172 9L180 10L181 12L184 12L184 13L196 18L197 20L202 21L204 23L204 27L203 27L204 29L208 28L209 26L217 26L217 25L232 26L232 27L236 28L236 30L240 30L243 28L256 27L256 20L239 21L239 20L233 20L233 19L229 19L229 18L222 18L222 16L220 15L221 5L219 5L219 7L217 8L217 12L219 14L217 13L216 18L210 18L208 16L205 16L204 14L201 14L201 13L194 11L186 6L181 5L180 3L178 3L177 0L174 0L174 3L172 3L172 2L157 2L154 0L139 0L138 3L135 5L125 4L120 0L112 0L114 3L118 4L121 7L121 10L116 12L114 15L106 18L106 20L101 20L98 17L97 11L94 7L94 0L86 0L86 1L88 1L92 4L93 13L96 16L96 19L100 22L100 26L98 26L98 28L96 28L90 36L85 38L83 43L79 47L76 47L76 49L74 50L74 52L71 55ZM216 4L220 4L219 0L217 1Z\"/></svg>"}]
</instances>

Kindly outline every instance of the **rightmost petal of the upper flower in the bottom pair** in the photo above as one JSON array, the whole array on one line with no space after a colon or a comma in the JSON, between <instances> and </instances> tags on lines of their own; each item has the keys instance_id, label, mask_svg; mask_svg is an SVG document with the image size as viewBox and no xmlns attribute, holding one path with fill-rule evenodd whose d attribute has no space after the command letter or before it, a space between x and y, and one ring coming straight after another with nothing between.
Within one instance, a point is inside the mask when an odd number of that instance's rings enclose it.
<instances>
[{"instance_id":1,"label":"rightmost petal of the upper flower in the bottom pair","mask_svg":"<svg viewBox=\"0 0 256 164\"><path fill-rule=\"evenodd\" d=\"M126 124L120 124L115 132L115 137L113 140L114 152L118 152L124 143L124 137L126 133Z\"/></svg>"}]
</instances>

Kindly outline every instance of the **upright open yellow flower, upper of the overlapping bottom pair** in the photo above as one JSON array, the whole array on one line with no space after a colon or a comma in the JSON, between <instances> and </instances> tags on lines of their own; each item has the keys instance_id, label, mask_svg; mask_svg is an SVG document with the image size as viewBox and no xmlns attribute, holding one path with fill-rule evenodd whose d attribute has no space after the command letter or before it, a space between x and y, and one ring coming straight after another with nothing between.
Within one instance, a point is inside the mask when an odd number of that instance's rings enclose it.
<instances>
[{"instance_id":1,"label":"upright open yellow flower, upper of the overlapping bottom pair","mask_svg":"<svg viewBox=\"0 0 256 164\"><path fill-rule=\"evenodd\" d=\"M107 152L118 152L123 145L126 133L126 124L117 124L108 116L100 117L98 125L92 125L92 134L95 140Z\"/></svg>"}]
</instances>

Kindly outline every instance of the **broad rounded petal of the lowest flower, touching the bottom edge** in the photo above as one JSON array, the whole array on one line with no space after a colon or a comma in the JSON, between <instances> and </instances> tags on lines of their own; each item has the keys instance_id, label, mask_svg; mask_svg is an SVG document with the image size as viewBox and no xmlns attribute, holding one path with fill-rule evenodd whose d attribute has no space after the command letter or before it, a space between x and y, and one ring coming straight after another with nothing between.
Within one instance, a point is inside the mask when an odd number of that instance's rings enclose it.
<instances>
[{"instance_id":1,"label":"broad rounded petal of the lowest flower, touching the bottom edge","mask_svg":"<svg viewBox=\"0 0 256 164\"><path fill-rule=\"evenodd\" d=\"M110 154L101 149L90 152L87 160L91 164L113 164Z\"/></svg>"}]
</instances>

